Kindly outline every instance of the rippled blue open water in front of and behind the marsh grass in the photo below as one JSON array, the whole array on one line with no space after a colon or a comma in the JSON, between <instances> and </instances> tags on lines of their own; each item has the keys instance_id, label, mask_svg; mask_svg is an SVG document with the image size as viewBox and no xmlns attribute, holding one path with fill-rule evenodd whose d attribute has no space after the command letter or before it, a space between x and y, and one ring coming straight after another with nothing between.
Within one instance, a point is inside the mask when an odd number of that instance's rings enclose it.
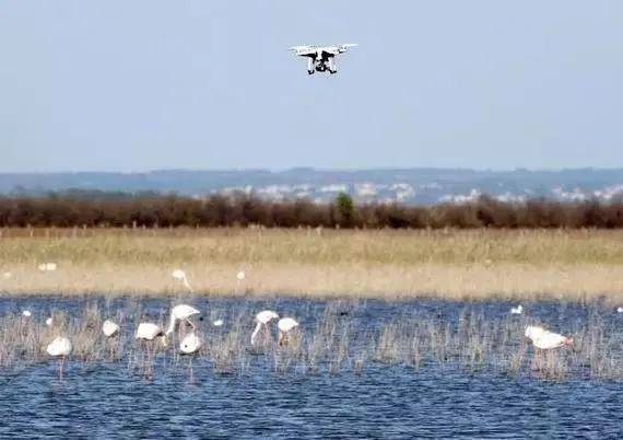
<instances>
[{"instance_id":1,"label":"rippled blue open water in front of and behind the marsh grass","mask_svg":"<svg viewBox=\"0 0 623 440\"><path fill-rule=\"evenodd\" d=\"M99 303L113 313L131 309L132 301L101 299ZM54 309L79 314L92 302L5 298L0 299L0 315L30 308L35 319L44 320ZM287 310L308 332L328 305L292 299L192 302L202 310L210 308L226 324L240 312L250 314L263 306ZM140 303L142 312L154 316L167 306L167 300ZM510 304L360 301L332 306L338 316L353 323L356 341L366 340L363 328L381 328L397 319L426 315L455 323L466 308L489 320L504 320ZM534 303L528 310L561 331L586 324L595 313L609 334L621 332L623 324L600 305ZM49 361L0 370L0 438L623 438L620 380L572 374L550 381L489 368L469 372L435 362L414 370L404 362L368 361L361 373L344 368L334 374L309 372L294 362L275 371L272 358L249 355L244 371L219 372L208 358L198 359L189 383L185 358L175 368L164 360L156 360L152 380L126 360L73 360L62 381Z\"/></svg>"}]
</instances>

